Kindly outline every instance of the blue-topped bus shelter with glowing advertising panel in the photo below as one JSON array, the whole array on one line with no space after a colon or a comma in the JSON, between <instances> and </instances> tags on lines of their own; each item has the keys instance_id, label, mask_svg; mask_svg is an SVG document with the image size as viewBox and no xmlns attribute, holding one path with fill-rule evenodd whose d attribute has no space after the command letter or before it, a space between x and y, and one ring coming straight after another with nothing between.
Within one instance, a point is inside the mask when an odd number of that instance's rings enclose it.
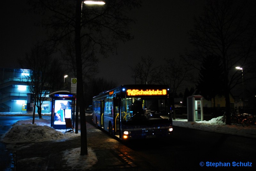
<instances>
[{"instance_id":1,"label":"blue-topped bus shelter with glowing advertising panel","mask_svg":"<svg viewBox=\"0 0 256 171\"><path fill-rule=\"evenodd\" d=\"M70 118L74 128L76 95L69 91L57 91L49 96L52 98L51 126L58 130L66 129L65 118Z\"/></svg>"}]
</instances>

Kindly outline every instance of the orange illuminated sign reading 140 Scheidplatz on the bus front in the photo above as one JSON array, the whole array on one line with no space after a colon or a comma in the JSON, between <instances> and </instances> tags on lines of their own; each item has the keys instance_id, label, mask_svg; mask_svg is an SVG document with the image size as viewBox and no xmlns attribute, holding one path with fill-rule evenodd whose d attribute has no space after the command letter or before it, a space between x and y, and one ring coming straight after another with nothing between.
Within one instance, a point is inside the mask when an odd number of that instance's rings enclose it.
<instances>
[{"instance_id":1,"label":"orange illuminated sign reading 140 Scheidplatz on the bus front","mask_svg":"<svg viewBox=\"0 0 256 171\"><path fill-rule=\"evenodd\" d=\"M128 89L126 91L128 96L136 96L136 95L166 95L167 94L167 90L163 89L163 90L138 90L138 89Z\"/></svg>"}]
</instances>

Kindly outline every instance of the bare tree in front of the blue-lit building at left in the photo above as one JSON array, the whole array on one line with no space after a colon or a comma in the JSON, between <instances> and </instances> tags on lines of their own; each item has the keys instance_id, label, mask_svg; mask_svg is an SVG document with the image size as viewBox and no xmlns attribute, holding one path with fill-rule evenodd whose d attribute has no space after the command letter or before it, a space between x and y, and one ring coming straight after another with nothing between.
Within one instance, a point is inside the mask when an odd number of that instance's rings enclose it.
<instances>
[{"instance_id":1,"label":"bare tree in front of the blue-lit building at left","mask_svg":"<svg viewBox=\"0 0 256 171\"><path fill-rule=\"evenodd\" d=\"M58 73L61 71L59 60L53 58L53 51L49 46L37 43L24 58L19 59L21 68L28 69L28 87L35 96L35 104L39 118L42 118L42 103L46 96L55 88L63 85L56 81ZM57 70L57 71L56 71ZM53 74L54 73L54 74ZM60 74L59 74L60 75ZM35 123L35 107L33 111L33 121Z\"/></svg>"}]
</instances>

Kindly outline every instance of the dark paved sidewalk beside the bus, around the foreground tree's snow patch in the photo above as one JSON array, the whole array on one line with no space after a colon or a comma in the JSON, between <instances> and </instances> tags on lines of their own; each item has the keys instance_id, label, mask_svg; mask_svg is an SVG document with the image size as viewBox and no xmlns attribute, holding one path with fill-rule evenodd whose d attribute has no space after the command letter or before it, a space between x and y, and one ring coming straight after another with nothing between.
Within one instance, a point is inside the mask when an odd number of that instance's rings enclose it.
<instances>
[{"instance_id":1,"label":"dark paved sidewalk beside the bus, around the foreground tree's snow patch","mask_svg":"<svg viewBox=\"0 0 256 171\"><path fill-rule=\"evenodd\" d=\"M144 171L157 170L138 156L133 150L126 147L119 141L108 136L91 124L87 123L87 146L92 148L97 156L97 163L89 170L107 171L107 170L129 170ZM80 136L76 139L54 142L51 141L36 143L32 146L17 150L14 154L16 163L15 170L79 170L67 166L64 160L63 151L80 147ZM41 160L29 161L32 158L41 158ZM41 161L41 162L38 162Z\"/></svg>"}]
</instances>

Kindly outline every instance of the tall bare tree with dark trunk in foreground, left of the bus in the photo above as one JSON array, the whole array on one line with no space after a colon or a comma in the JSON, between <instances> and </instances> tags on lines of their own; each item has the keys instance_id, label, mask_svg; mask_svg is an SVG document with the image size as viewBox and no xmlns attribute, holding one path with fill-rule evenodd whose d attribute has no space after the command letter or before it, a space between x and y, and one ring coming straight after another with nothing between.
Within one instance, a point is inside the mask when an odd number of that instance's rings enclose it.
<instances>
[{"instance_id":1,"label":"tall bare tree with dark trunk in foreground, left of the bus","mask_svg":"<svg viewBox=\"0 0 256 171\"><path fill-rule=\"evenodd\" d=\"M83 66L81 42L90 42L91 49L107 57L116 50L119 41L132 39L129 24L132 19L126 12L139 7L136 0L106 0L104 6L83 6L81 0L52 1L29 0L35 12L43 12L43 25L50 28L53 41L61 42L69 36L75 42L77 106L81 120L81 155L87 154L87 138L85 125L85 100L83 90Z\"/></svg>"}]
</instances>

